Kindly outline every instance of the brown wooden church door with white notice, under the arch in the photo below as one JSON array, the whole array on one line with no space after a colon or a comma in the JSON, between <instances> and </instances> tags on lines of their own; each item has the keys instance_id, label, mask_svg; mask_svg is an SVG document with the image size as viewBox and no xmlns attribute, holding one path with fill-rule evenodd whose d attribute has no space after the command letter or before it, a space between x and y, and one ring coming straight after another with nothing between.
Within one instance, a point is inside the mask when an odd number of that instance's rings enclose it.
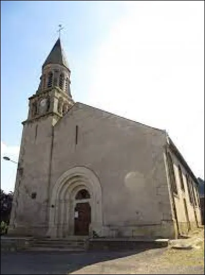
<instances>
[{"instance_id":1,"label":"brown wooden church door with white notice, under the arch","mask_svg":"<svg viewBox=\"0 0 205 275\"><path fill-rule=\"evenodd\" d=\"M89 202L77 203L74 211L74 234L78 236L88 236L91 222L91 208Z\"/></svg>"}]
</instances>

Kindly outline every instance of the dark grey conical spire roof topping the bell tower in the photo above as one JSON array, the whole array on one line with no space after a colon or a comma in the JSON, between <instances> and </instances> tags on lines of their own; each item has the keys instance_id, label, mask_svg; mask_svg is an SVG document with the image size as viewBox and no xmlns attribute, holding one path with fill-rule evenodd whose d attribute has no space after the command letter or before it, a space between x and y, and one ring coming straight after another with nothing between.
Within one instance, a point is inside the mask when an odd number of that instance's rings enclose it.
<instances>
[{"instance_id":1,"label":"dark grey conical spire roof topping the bell tower","mask_svg":"<svg viewBox=\"0 0 205 275\"><path fill-rule=\"evenodd\" d=\"M43 67L47 64L60 64L64 65L69 69L68 61L66 59L64 50L61 46L60 38L58 38L55 42L55 45L53 46L52 50L50 51L50 54L44 62Z\"/></svg>"}]
</instances>

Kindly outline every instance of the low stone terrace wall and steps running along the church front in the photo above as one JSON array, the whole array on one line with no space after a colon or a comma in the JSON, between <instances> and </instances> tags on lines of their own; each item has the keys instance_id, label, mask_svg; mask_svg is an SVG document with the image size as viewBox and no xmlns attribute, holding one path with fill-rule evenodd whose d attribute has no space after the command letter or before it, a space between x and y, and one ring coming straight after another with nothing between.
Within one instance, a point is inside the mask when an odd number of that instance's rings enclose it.
<instances>
[{"instance_id":1,"label":"low stone terrace wall and steps running along the church front","mask_svg":"<svg viewBox=\"0 0 205 275\"><path fill-rule=\"evenodd\" d=\"M125 250L140 247L167 247L172 242L169 239L141 238L1 238L1 250L31 250L31 251L94 251L94 250Z\"/></svg>"}]
</instances>

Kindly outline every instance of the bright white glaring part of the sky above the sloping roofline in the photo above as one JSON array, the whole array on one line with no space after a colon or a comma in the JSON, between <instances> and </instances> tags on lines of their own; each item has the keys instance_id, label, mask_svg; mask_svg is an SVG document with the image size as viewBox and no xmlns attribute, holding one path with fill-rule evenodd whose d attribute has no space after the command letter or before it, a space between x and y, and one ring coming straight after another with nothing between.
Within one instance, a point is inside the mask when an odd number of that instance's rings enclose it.
<instances>
[{"instance_id":1,"label":"bright white glaring part of the sky above the sloping roofline","mask_svg":"<svg viewBox=\"0 0 205 275\"><path fill-rule=\"evenodd\" d=\"M204 2L126 5L93 54L87 103L166 129L204 178Z\"/></svg>"}]
</instances>

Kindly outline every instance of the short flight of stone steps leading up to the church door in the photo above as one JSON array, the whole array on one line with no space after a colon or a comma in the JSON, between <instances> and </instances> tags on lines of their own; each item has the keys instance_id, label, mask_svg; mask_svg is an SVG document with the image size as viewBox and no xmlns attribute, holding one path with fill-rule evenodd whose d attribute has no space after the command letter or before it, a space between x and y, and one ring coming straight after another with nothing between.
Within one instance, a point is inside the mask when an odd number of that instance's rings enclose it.
<instances>
[{"instance_id":1,"label":"short flight of stone steps leading up to the church door","mask_svg":"<svg viewBox=\"0 0 205 275\"><path fill-rule=\"evenodd\" d=\"M84 237L69 238L36 238L30 243L30 251L86 251L87 239Z\"/></svg>"}]
</instances>

